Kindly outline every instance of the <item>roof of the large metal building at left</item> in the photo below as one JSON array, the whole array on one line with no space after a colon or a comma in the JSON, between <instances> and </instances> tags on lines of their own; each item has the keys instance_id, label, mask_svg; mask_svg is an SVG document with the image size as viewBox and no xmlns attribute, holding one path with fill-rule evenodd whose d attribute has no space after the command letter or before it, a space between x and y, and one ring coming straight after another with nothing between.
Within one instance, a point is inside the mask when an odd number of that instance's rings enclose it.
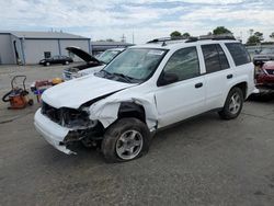
<instances>
[{"instance_id":1,"label":"roof of the large metal building at left","mask_svg":"<svg viewBox=\"0 0 274 206\"><path fill-rule=\"evenodd\" d=\"M65 32L23 32L23 31L0 31L0 34L12 34L19 38L64 38L64 39L90 39L88 37L68 34Z\"/></svg>"}]
</instances>

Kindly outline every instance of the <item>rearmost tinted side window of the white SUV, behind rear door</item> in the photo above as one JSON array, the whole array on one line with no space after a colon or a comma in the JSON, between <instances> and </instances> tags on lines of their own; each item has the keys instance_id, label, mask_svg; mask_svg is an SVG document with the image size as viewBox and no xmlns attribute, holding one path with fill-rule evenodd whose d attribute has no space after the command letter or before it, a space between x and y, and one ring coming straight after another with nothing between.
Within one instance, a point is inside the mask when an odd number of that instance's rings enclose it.
<instances>
[{"instance_id":1,"label":"rearmost tinted side window of the white SUV, behind rear door","mask_svg":"<svg viewBox=\"0 0 274 206\"><path fill-rule=\"evenodd\" d=\"M240 66L250 62L250 56L240 43L226 43L226 46L233 58L235 65Z\"/></svg>"}]
</instances>

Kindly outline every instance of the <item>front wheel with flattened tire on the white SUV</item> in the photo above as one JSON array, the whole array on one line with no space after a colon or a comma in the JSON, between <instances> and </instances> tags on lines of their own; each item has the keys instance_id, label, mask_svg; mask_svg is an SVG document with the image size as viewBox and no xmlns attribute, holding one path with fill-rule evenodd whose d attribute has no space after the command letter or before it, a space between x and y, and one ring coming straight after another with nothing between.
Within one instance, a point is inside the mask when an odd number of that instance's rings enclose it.
<instances>
[{"instance_id":1,"label":"front wheel with flattened tire on the white SUV","mask_svg":"<svg viewBox=\"0 0 274 206\"><path fill-rule=\"evenodd\" d=\"M101 148L107 162L124 162L148 152L150 140L145 123L137 118L121 118L107 128Z\"/></svg>"}]
</instances>

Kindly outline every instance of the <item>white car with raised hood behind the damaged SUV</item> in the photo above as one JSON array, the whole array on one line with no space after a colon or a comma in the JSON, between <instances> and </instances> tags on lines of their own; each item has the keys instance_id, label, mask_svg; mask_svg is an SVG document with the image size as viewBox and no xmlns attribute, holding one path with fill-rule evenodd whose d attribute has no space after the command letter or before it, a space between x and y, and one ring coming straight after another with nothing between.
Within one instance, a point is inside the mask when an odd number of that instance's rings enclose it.
<instances>
[{"instance_id":1,"label":"white car with raised hood behind the damaged SUV","mask_svg":"<svg viewBox=\"0 0 274 206\"><path fill-rule=\"evenodd\" d=\"M65 81L90 75L103 69L104 66L107 65L113 58L125 50L125 48L111 48L103 52L99 57L95 58L79 47L71 46L67 47L66 49L83 59L85 64L64 69L62 78Z\"/></svg>"}]
</instances>

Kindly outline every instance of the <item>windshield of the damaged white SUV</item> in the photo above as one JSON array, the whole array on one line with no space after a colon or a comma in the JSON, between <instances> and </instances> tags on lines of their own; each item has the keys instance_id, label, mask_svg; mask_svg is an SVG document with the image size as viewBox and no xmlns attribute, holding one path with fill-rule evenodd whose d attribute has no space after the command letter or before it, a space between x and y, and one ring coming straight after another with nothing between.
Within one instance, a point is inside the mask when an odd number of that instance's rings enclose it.
<instances>
[{"instance_id":1,"label":"windshield of the damaged white SUV","mask_svg":"<svg viewBox=\"0 0 274 206\"><path fill-rule=\"evenodd\" d=\"M100 72L104 78L125 82L142 82L151 77L167 49L130 48L117 56Z\"/></svg>"}]
</instances>

